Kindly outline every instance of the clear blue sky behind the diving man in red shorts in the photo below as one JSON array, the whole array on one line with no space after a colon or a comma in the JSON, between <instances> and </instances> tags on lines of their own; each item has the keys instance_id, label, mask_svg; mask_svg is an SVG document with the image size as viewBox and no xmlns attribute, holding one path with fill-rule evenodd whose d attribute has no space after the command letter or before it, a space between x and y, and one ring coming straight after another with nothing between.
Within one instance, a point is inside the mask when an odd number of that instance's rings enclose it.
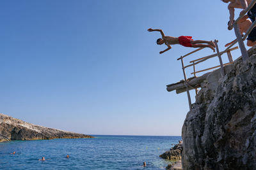
<instances>
[{"instance_id":1,"label":"clear blue sky behind the diving man in red shorts","mask_svg":"<svg viewBox=\"0 0 256 170\"><path fill-rule=\"evenodd\" d=\"M183 79L176 59L193 49L159 55L166 46L147 29L218 39L224 50L235 38L228 17L220 0L1 1L0 113L84 134L180 136L188 99L166 85Z\"/></svg>"}]
</instances>

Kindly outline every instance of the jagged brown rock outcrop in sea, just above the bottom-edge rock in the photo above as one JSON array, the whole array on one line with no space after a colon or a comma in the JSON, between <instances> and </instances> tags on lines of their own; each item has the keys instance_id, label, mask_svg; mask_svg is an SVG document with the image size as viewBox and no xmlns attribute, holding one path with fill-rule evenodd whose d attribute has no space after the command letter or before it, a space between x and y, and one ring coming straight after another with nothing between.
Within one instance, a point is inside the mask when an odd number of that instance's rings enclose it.
<instances>
[{"instance_id":1,"label":"jagged brown rock outcrop in sea, just above the bottom-edge rock","mask_svg":"<svg viewBox=\"0 0 256 170\"><path fill-rule=\"evenodd\" d=\"M162 157L163 159L169 159L169 160L180 160L181 159L181 153L183 150L182 143L179 143L170 150L164 152L159 157Z\"/></svg>"}]
</instances>

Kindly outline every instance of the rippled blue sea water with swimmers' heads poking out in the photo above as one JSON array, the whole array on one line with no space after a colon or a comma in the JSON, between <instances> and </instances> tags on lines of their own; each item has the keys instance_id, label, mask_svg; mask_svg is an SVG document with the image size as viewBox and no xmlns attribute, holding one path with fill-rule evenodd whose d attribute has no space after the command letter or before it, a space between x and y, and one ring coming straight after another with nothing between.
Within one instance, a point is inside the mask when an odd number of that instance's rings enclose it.
<instances>
[{"instance_id":1,"label":"rippled blue sea water with swimmers' heads poking out","mask_svg":"<svg viewBox=\"0 0 256 170\"><path fill-rule=\"evenodd\" d=\"M165 169L180 136L95 136L0 143L0 169ZM15 155L10 154L16 152ZM70 158L67 159L66 155ZM45 161L39 161L42 157ZM143 162L147 167L143 167Z\"/></svg>"}]
</instances>

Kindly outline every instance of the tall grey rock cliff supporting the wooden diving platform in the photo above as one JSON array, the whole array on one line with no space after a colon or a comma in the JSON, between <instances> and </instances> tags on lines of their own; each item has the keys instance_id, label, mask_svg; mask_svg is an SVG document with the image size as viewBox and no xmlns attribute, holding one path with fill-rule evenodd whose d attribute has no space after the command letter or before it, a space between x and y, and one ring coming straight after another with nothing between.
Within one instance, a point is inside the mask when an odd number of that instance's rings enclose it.
<instances>
[{"instance_id":1,"label":"tall grey rock cliff supporting the wooden diving platform","mask_svg":"<svg viewBox=\"0 0 256 170\"><path fill-rule=\"evenodd\" d=\"M256 54L213 71L182 127L184 169L256 169Z\"/></svg>"}]
</instances>

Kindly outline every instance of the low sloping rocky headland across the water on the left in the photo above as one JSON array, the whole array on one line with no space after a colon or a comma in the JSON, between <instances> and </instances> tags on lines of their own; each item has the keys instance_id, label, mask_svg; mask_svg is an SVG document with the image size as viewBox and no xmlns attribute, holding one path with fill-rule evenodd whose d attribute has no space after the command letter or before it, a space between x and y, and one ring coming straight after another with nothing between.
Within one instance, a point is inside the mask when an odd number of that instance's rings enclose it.
<instances>
[{"instance_id":1,"label":"low sloping rocky headland across the water on the left","mask_svg":"<svg viewBox=\"0 0 256 170\"><path fill-rule=\"evenodd\" d=\"M33 125L0 113L0 141L54 138L93 138L85 134Z\"/></svg>"}]
</instances>

